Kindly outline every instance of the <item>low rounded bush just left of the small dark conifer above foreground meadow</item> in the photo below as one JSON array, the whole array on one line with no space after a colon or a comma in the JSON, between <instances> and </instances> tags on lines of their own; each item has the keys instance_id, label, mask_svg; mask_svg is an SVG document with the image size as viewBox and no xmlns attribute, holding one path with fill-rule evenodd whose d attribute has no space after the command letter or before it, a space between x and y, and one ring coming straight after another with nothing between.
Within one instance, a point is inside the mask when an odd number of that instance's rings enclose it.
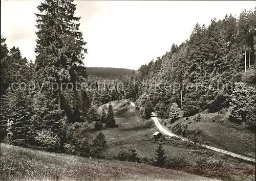
<instances>
[{"instance_id":1,"label":"low rounded bush just left of the small dark conifer above foreground meadow","mask_svg":"<svg viewBox=\"0 0 256 181\"><path fill-rule=\"evenodd\" d=\"M120 161L129 161L129 162L138 162L140 163L139 153L132 146L121 146L121 149L118 152L117 159ZM144 162L148 162L147 158L143 158Z\"/></svg>"}]
</instances>

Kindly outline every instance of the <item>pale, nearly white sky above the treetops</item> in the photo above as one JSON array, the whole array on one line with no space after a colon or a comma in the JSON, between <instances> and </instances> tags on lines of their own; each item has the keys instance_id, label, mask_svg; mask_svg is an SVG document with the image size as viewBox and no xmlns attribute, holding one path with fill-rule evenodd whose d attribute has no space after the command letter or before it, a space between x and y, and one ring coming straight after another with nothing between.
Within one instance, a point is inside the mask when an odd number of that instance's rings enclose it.
<instances>
[{"instance_id":1,"label":"pale, nearly white sky above the treetops","mask_svg":"<svg viewBox=\"0 0 256 181\"><path fill-rule=\"evenodd\" d=\"M1 0L1 34L8 47L35 60L36 16L39 0ZM88 42L87 67L138 69L181 44L196 23L225 14L239 16L256 1L74 1L80 31Z\"/></svg>"}]
</instances>

